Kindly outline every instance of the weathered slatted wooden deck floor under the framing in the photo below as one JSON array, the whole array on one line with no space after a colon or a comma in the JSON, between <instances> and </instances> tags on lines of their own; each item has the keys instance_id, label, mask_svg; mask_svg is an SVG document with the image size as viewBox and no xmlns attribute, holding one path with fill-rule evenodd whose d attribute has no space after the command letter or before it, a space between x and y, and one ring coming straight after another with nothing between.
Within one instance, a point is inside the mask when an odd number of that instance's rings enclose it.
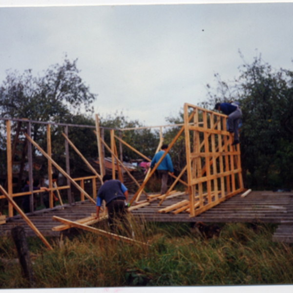
<instances>
[{"instance_id":1,"label":"weathered slatted wooden deck floor under the framing","mask_svg":"<svg viewBox=\"0 0 293 293\"><path fill-rule=\"evenodd\" d=\"M129 195L131 198L133 194ZM235 195L223 203L209 209L202 214L190 218L186 212L179 214L158 213L159 209L188 199L188 195L181 195L166 199L158 207L159 200L151 202L148 206L132 211L134 217L141 217L146 221L157 222L253 222L286 224L286 242L293 241L293 232L288 232L293 225L293 192L272 192L272 191L252 191L249 195L241 198L241 194ZM141 200L144 200L142 195ZM29 219L36 225L44 236L59 236L61 232L51 229L60 223L52 221L52 216L62 217L68 220L78 220L85 218L95 212L95 206L88 200L78 202L75 205L65 205L64 209L56 207L54 209L43 209L34 213L28 213ZM6 224L0 225L0 235L10 234L10 230L15 225L23 225L27 236L35 236L34 232L27 226L24 220L18 215L7 218ZM293 227L293 226L292 226ZM289 235L289 234L290 235ZM279 234L280 236L280 234ZM281 240L282 236L279 237ZM278 239L275 237L275 241Z\"/></svg>"}]
</instances>

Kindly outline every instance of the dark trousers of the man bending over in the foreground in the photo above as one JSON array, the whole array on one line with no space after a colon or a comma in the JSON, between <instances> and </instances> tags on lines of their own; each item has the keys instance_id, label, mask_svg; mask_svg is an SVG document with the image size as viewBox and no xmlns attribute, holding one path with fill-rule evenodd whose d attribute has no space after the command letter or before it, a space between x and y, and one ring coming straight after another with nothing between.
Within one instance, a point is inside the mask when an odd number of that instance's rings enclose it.
<instances>
[{"instance_id":1,"label":"dark trousers of the man bending over in the foreground","mask_svg":"<svg viewBox=\"0 0 293 293\"><path fill-rule=\"evenodd\" d=\"M126 219L127 208L125 207L125 201L123 199L112 200L107 205L107 209L110 229L115 231L118 226L118 222L121 222L128 232L128 223Z\"/></svg>"}]
</instances>

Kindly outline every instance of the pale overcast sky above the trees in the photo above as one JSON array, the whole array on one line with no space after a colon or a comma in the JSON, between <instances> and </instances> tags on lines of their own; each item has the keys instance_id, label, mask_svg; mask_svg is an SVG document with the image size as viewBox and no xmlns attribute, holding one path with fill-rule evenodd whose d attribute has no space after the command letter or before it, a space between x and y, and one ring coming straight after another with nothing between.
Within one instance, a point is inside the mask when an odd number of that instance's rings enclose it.
<instances>
[{"instance_id":1,"label":"pale overcast sky above the trees","mask_svg":"<svg viewBox=\"0 0 293 293\"><path fill-rule=\"evenodd\" d=\"M0 82L7 69L42 74L67 53L98 94L96 112L165 125L207 98L214 73L238 75L238 50L293 70L292 36L293 3L2 7Z\"/></svg>"}]
</instances>

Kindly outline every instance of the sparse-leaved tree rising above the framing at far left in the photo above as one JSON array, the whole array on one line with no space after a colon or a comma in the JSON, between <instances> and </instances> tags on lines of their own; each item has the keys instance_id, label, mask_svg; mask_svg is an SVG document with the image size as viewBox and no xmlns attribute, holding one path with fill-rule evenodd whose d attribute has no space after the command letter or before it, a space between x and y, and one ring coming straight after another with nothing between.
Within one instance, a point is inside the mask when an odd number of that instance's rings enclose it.
<instances>
[{"instance_id":1,"label":"sparse-leaved tree rising above the framing at far left","mask_svg":"<svg viewBox=\"0 0 293 293\"><path fill-rule=\"evenodd\" d=\"M81 109L92 113L91 104L97 95L90 93L82 81L76 63L65 56L62 65L52 65L38 77L31 69L21 75L7 71L0 86L0 116L61 123L81 114ZM32 127L32 137L37 140L43 127Z\"/></svg>"}]
</instances>

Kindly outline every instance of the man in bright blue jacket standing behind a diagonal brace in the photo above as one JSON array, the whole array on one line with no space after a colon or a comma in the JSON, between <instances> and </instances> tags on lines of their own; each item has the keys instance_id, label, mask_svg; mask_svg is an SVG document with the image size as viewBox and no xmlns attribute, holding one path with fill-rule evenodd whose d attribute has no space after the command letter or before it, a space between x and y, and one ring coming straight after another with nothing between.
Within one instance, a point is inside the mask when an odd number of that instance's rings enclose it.
<instances>
[{"instance_id":1,"label":"man in bright blue jacket standing behind a diagonal brace","mask_svg":"<svg viewBox=\"0 0 293 293\"><path fill-rule=\"evenodd\" d=\"M155 156L153 157L153 159L150 163L151 168L153 168L159 162L159 160L161 159L161 157L163 156L163 154L167 150L167 148L168 148L168 145L163 145L161 147L161 150L155 154ZM162 178L161 194L165 194L168 190L168 188L167 188L168 171L170 171L172 173L172 175L174 172L172 161L171 161L169 154L167 154L165 156L163 161L157 167L157 170L159 172L160 177Z\"/></svg>"}]
</instances>

